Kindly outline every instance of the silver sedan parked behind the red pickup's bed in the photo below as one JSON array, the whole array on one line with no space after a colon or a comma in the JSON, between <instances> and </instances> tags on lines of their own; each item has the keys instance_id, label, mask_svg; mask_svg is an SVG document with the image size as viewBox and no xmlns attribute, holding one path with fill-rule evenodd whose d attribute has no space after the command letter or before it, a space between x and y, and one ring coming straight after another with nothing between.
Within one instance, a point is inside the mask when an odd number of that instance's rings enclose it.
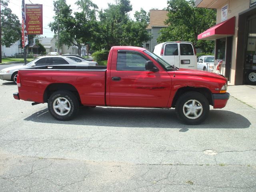
<instances>
[{"instance_id":1,"label":"silver sedan parked behind the red pickup's bed","mask_svg":"<svg viewBox=\"0 0 256 192\"><path fill-rule=\"evenodd\" d=\"M4 68L0 71L0 79L17 83L18 70L45 65L81 65L70 58L63 56L41 56L24 65ZM83 63L83 66L95 66L96 62Z\"/></svg>"}]
</instances>

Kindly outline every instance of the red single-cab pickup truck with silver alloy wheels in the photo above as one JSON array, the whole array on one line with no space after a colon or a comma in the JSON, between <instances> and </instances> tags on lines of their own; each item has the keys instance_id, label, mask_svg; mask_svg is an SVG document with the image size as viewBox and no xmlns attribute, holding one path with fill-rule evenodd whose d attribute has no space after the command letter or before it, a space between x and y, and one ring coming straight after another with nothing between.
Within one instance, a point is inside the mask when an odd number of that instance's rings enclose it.
<instances>
[{"instance_id":1,"label":"red single-cab pickup truck with silver alloy wheels","mask_svg":"<svg viewBox=\"0 0 256 192\"><path fill-rule=\"evenodd\" d=\"M40 66L18 72L14 98L48 103L57 120L70 120L80 106L175 108L186 124L199 124L209 105L223 108L227 80L215 73L170 66L139 47L114 46L107 66ZM125 110L125 109L124 109Z\"/></svg>"}]
</instances>

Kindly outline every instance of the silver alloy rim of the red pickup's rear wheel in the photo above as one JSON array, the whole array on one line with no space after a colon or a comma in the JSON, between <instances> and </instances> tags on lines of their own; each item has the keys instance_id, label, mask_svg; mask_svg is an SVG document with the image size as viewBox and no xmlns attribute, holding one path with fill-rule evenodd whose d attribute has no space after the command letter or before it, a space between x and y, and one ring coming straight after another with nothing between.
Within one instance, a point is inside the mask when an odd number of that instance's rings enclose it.
<instances>
[{"instance_id":1,"label":"silver alloy rim of the red pickup's rear wheel","mask_svg":"<svg viewBox=\"0 0 256 192\"><path fill-rule=\"evenodd\" d=\"M70 102L64 97L58 97L53 102L53 109L56 114L64 116L70 112Z\"/></svg>"}]
</instances>

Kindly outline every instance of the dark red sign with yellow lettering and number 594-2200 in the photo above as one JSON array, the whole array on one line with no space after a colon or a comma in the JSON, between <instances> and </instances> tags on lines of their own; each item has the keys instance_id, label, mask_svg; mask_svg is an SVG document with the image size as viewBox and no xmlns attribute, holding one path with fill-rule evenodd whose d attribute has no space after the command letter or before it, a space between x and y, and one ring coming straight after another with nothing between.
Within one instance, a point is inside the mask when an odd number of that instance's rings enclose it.
<instances>
[{"instance_id":1,"label":"dark red sign with yellow lettering and number 594-2200","mask_svg":"<svg viewBox=\"0 0 256 192\"><path fill-rule=\"evenodd\" d=\"M43 5L26 4L26 28L28 35L43 34Z\"/></svg>"}]
</instances>

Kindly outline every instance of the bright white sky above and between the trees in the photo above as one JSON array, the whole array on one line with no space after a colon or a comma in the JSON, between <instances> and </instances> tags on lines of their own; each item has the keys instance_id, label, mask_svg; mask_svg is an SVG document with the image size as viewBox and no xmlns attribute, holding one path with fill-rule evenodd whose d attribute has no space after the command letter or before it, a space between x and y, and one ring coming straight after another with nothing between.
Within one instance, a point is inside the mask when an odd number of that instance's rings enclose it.
<instances>
[{"instance_id":1,"label":"bright white sky above and between the trees","mask_svg":"<svg viewBox=\"0 0 256 192\"><path fill-rule=\"evenodd\" d=\"M73 12L78 11L76 0L66 0L67 4L71 5ZM105 9L108 7L108 3L115 4L115 0L92 0L99 9ZM132 4L132 11L129 13L131 18L135 11L140 11L143 8L145 11L149 11L151 8L158 8L162 10L167 7L167 0L130 0ZM43 37L53 37L54 33L51 32L48 24L53 21L54 11L53 11L53 0L25 0L25 4L43 4ZM10 0L8 7L12 10L12 13L16 14L22 21L21 15L21 4L22 0Z\"/></svg>"}]
</instances>

